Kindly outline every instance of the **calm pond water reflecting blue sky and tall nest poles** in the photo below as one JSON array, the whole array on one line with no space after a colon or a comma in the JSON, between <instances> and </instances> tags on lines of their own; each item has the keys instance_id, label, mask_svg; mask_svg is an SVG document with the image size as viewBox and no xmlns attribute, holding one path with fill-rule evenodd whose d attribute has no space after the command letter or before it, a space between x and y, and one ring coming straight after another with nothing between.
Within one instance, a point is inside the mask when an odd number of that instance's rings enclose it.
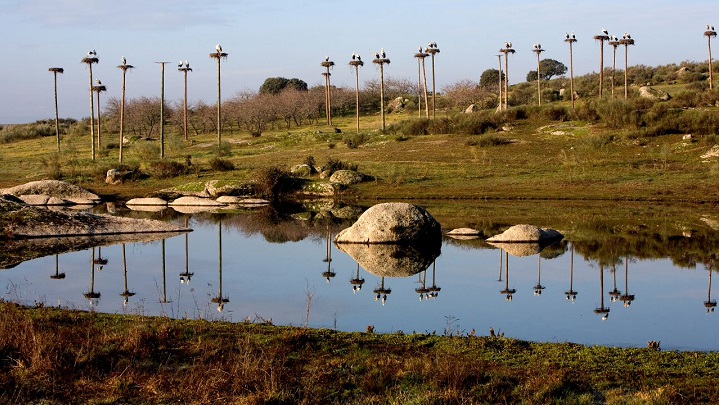
<instances>
[{"instance_id":1,"label":"calm pond water reflecting blue sky and tall nest poles","mask_svg":"<svg viewBox=\"0 0 720 405\"><path fill-rule=\"evenodd\" d=\"M592 233L577 218L565 219L556 229L566 238L539 253L505 251L484 238L445 238L426 268L400 275L370 272L330 242L352 215L295 211L119 210L187 223L193 232L6 262L2 297L342 331L488 335L492 329L541 342L645 347L655 340L663 350L718 350L716 216L677 226L658 225L657 218L643 225L586 218ZM464 218L484 232L508 225L438 211L452 218L447 223ZM513 210L505 212L514 219Z\"/></svg>"}]
</instances>

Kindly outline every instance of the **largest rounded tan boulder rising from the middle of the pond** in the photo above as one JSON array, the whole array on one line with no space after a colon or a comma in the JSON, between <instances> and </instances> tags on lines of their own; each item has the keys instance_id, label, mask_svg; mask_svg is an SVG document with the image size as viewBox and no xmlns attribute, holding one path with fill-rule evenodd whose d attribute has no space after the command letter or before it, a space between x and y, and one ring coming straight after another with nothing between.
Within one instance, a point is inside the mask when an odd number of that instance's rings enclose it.
<instances>
[{"instance_id":1,"label":"largest rounded tan boulder rising from the middle of the pond","mask_svg":"<svg viewBox=\"0 0 720 405\"><path fill-rule=\"evenodd\" d=\"M408 203L383 203L367 209L336 243L428 243L442 241L440 224L424 208Z\"/></svg>"}]
</instances>

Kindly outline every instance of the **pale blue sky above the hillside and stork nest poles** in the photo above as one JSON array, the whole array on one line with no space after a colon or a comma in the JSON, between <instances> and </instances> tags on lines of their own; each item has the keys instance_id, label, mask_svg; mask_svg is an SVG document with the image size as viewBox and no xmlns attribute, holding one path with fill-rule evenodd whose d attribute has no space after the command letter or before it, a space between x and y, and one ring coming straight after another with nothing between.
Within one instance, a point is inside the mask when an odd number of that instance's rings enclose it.
<instances>
[{"instance_id":1,"label":"pale blue sky above the hillside and stork nest poles","mask_svg":"<svg viewBox=\"0 0 720 405\"><path fill-rule=\"evenodd\" d=\"M0 123L21 123L54 116L52 74L58 78L61 117L89 115L88 72L80 60L95 49L100 63L93 76L107 86L107 97L119 97L125 56L136 68L127 75L127 97L160 93L160 67L165 72L165 98L182 98L178 60L193 68L188 83L191 101L213 103L216 65L208 57L220 43L229 54L222 65L223 99L240 91L256 91L268 77L297 77L310 86L323 83L320 62L336 64L334 85L354 87L347 61L353 52L364 60L384 48L391 64L386 77L414 79L418 45L437 42L437 88L460 80L479 80L497 68L497 51L505 41L517 53L510 57L511 83L525 80L537 63L532 44L543 58L569 64L563 42L574 31L575 74L597 72L599 45L593 35L632 34L636 46L629 65L656 66L684 60L707 60L705 24L718 25L717 0L0 0ZM718 55L713 40L713 59ZM612 52L606 47L605 64ZM622 65L618 52L618 65ZM360 82L377 79L366 64ZM362 84L361 84L362 86Z\"/></svg>"}]
</instances>

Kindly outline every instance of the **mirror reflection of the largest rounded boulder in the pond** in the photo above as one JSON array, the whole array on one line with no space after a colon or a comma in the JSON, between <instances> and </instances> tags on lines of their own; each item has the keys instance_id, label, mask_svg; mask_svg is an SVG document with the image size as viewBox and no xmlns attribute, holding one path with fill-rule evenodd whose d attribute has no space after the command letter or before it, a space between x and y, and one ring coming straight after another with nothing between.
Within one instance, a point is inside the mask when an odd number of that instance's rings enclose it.
<instances>
[{"instance_id":1,"label":"mirror reflection of the largest rounded boulder in the pond","mask_svg":"<svg viewBox=\"0 0 720 405\"><path fill-rule=\"evenodd\" d=\"M440 244L336 244L362 268L376 276L409 277L427 269L440 255Z\"/></svg>"}]
</instances>

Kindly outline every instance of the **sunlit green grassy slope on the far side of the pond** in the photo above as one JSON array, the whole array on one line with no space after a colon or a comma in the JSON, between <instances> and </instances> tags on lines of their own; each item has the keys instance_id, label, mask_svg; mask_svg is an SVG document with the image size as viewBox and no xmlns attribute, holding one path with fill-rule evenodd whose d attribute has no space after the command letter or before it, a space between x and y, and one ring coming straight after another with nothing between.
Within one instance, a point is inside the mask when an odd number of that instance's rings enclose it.
<instances>
[{"instance_id":1,"label":"sunlit green grassy slope on the far side of the pond","mask_svg":"<svg viewBox=\"0 0 720 405\"><path fill-rule=\"evenodd\" d=\"M713 112L717 115L717 108ZM375 116L363 117L360 135L354 133L352 117L335 118L334 127L293 127L260 137L225 133L227 155L222 159L235 170L222 172L211 170L209 163L217 156L215 134L185 144L170 133L165 160L184 164L190 155L187 174L120 186L103 182L105 172L118 166L117 149L101 149L93 162L89 135L65 137L59 155L54 138L46 137L1 146L0 186L54 177L122 199L198 179L248 181L263 168L289 169L312 156L318 165L329 159L355 164L375 179L353 187L345 198L718 201L717 156L703 157L717 147L717 134L641 137L604 123L547 119L542 110L527 114L525 119L506 119L505 130L482 135L404 134L408 123L418 121L412 113L391 115L384 133ZM464 119L450 112L441 117L447 122ZM359 140L359 146L348 147L348 140ZM137 141L125 149L125 164L140 171L159 160L157 141Z\"/></svg>"}]
</instances>

